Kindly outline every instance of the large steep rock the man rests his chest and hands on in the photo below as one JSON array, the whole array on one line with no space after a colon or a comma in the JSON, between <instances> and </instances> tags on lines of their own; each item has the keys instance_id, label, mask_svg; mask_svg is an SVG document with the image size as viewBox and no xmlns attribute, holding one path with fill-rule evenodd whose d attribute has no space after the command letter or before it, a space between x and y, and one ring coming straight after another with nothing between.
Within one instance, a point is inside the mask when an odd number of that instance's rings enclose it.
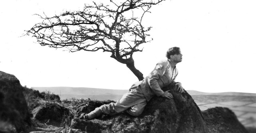
<instances>
[{"instance_id":1,"label":"large steep rock the man rests his chest and hands on","mask_svg":"<svg viewBox=\"0 0 256 133\"><path fill-rule=\"evenodd\" d=\"M173 99L153 97L145 107L145 114L156 116L152 132L161 133L208 133L204 117L192 97L185 91L179 93L172 85Z\"/></svg>"}]
</instances>

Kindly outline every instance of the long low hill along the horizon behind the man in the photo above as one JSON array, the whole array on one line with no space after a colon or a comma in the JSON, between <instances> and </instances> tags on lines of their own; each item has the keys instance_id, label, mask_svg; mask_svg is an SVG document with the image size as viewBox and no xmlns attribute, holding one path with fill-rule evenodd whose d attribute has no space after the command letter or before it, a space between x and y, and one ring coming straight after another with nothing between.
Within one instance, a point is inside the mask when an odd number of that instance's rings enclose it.
<instances>
[{"instance_id":1,"label":"long low hill along the horizon behind the man","mask_svg":"<svg viewBox=\"0 0 256 133\"><path fill-rule=\"evenodd\" d=\"M98 89L88 87L32 87L32 89L42 91L50 91L51 93L60 95L60 99L94 99L94 100L118 100L129 90L121 89ZM240 92L221 92L221 93L205 93L194 90L187 90L190 95L232 95L232 96L256 96L255 93Z\"/></svg>"}]
</instances>

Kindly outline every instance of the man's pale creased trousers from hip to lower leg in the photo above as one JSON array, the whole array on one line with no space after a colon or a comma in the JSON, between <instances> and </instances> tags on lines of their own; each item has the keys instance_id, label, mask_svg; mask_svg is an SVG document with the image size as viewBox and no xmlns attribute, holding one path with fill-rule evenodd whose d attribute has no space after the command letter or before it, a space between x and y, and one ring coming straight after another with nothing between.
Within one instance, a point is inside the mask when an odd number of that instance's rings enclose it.
<instances>
[{"instance_id":1,"label":"man's pale creased trousers from hip to lower leg","mask_svg":"<svg viewBox=\"0 0 256 133\"><path fill-rule=\"evenodd\" d=\"M147 100L142 93L140 85L133 85L116 103L102 105L99 109L108 115L115 115L125 111L132 116L138 116L143 112L146 104Z\"/></svg>"}]
</instances>

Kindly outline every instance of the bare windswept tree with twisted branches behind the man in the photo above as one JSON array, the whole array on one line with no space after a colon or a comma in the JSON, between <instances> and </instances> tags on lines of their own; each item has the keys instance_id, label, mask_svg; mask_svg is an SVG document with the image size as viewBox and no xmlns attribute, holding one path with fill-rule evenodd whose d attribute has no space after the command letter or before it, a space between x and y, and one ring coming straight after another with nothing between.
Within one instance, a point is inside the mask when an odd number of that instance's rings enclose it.
<instances>
[{"instance_id":1,"label":"bare windswept tree with twisted branches behind the man","mask_svg":"<svg viewBox=\"0 0 256 133\"><path fill-rule=\"evenodd\" d=\"M153 5L163 0L110 0L109 5L85 4L82 11L66 11L60 15L41 16L42 22L27 31L41 46L110 52L111 58L126 66L142 80L132 55L142 52L140 44L150 42L151 27L144 27L142 18Z\"/></svg>"}]
</instances>

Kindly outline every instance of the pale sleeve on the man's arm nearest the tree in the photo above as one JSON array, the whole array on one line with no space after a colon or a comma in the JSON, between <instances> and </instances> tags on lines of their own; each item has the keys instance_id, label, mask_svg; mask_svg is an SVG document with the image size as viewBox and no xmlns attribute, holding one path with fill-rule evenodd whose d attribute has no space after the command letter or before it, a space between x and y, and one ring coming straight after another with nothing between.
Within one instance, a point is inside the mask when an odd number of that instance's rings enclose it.
<instances>
[{"instance_id":1,"label":"pale sleeve on the man's arm nearest the tree","mask_svg":"<svg viewBox=\"0 0 256 133\"><path fill-rule=\"evenodd\" d=\"M165 70L166 70L166 63L165 62L159 62L158 64L156 64L156 67L154 68L154 70L148 76L148 84L149 84L150 88L152 89L152 91L157 96L160 96L160 95L164 94L164 91L162 91L162 89L160 88L157 80L160 77L162 77L162 75L164 75Z\"/></svg>"}]
</instances>

